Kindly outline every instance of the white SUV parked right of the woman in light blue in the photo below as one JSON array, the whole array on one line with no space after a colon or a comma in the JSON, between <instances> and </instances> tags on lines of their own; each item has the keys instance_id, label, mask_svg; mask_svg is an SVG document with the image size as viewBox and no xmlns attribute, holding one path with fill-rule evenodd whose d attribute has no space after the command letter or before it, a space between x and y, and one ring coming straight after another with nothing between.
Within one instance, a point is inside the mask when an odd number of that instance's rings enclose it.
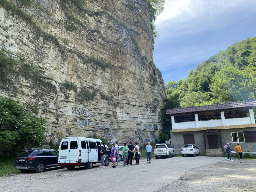
<instances>
[{"instance_id":1,"label":"white SUV parked right of the woman in light blue","mask_svg":"<svg viewBox=\"0 0 256 192\"><path fill-rule=\"evenodd\" d=\"M154 148L154 153L156 159L158 159L159 156L167 156L168 158L170 158L171 156L174 156L174 149L168 143L159 143L156 144L156 147Z\"/></svg>"}]
</instances>

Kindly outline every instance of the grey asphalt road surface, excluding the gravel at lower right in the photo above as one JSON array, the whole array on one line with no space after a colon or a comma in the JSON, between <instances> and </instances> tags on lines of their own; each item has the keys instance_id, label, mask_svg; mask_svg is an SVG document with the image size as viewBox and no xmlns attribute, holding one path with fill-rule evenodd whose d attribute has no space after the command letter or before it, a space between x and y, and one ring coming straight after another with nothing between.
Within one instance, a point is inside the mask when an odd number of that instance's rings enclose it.
<instances>
[{"instance_id":1,"label":"grey asphalt road surface, excluding the gravel at lower right","mask_svg":"<svg viewBox=\"0 0 256 192\"><path fill-rule=\"evenodd\" d=\"M172 157L153 159L152 164L144 160L140 165L116 168L110 165L100 168L99 164L87 170L76 167L74 170L57 169L42 173L21 173L0 178L0 191L61 191L61 192L153 192L177 182L191 169L217 162L224 157ZM230 162L231 163L231 162Z\"/></svg>"}]
</instances>

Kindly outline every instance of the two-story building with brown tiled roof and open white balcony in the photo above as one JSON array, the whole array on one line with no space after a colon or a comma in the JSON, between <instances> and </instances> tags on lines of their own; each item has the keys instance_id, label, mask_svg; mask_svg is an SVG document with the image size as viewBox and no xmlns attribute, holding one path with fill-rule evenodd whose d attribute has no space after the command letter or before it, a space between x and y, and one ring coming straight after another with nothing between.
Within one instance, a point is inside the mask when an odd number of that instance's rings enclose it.
<instances>
[{"instance_id":1,"label":"two-story building with brown tiled roof and open white balcony","mask_svg":"<svg viewBox=\"0 0 256 192\"><path fill-rule=\"evenodd\" d=\"M256 151L256 100L167 109L172 116L171 144L176 154L184 144L195 144L206 156L222 156L229 142L242 151Z\"/></svg>"}]
</instances>

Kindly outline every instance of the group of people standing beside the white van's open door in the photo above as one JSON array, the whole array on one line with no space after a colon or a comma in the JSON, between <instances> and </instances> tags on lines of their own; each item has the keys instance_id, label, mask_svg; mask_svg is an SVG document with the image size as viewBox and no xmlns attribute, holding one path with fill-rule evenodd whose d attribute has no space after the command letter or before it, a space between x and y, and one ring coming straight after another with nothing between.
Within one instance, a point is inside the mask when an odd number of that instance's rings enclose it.
<instances>
[{"instance_id":1,"label":"group of people standing beside the white van's open door","mask_svg":"<svg viewBox=\"0 0 256 192\"><path fill-rule=\"evenodd\" d=\"M111 149L111 162L113 164L113 168L116 167L116 164L118 165L118 151L120 148L118 148L118 141L116 141L116 144L112 143L112 149ZM127 167L128 164L132 165L132 158L133 158L133 152L135 151L135 165L140 164L140 147L138 146L138 143L135 142L135 146L132 145L132 142L129 142L129 145L127 146L127 143L124 143L124 147L122 148L123 151L123 159L124 159L124 167ZM148 142L148 145L146 146L147 151L147 161L148 163L151 163L151 151L152 146L150 145L150 142ZM101 165L100 167L105 166L105 149L103 146L101 146ZM130 162L129 162L130 161Z\"/></svg>"}]
</instances>

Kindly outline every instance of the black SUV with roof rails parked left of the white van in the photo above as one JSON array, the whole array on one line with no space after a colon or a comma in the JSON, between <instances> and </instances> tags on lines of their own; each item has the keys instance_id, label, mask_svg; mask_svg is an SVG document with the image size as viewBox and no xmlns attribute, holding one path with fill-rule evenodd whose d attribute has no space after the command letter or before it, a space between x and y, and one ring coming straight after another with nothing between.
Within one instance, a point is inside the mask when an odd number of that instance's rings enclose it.
<instances>
[{"instance_id":1,"label":"black SUV with roof rails parked left of the white van","mask_svg":"<svg viewBox=\"0 0 256 192\"><path fill-rule=\"evenodd\" d=\"M31 148L23 151L14 164L15 169L19 169L21 172L27 172L28 170L35 170L40 173L45 169L51 169L55 167L66 168L58 163L58 152L49 148Z\"/></svg>"}]
</instances>

